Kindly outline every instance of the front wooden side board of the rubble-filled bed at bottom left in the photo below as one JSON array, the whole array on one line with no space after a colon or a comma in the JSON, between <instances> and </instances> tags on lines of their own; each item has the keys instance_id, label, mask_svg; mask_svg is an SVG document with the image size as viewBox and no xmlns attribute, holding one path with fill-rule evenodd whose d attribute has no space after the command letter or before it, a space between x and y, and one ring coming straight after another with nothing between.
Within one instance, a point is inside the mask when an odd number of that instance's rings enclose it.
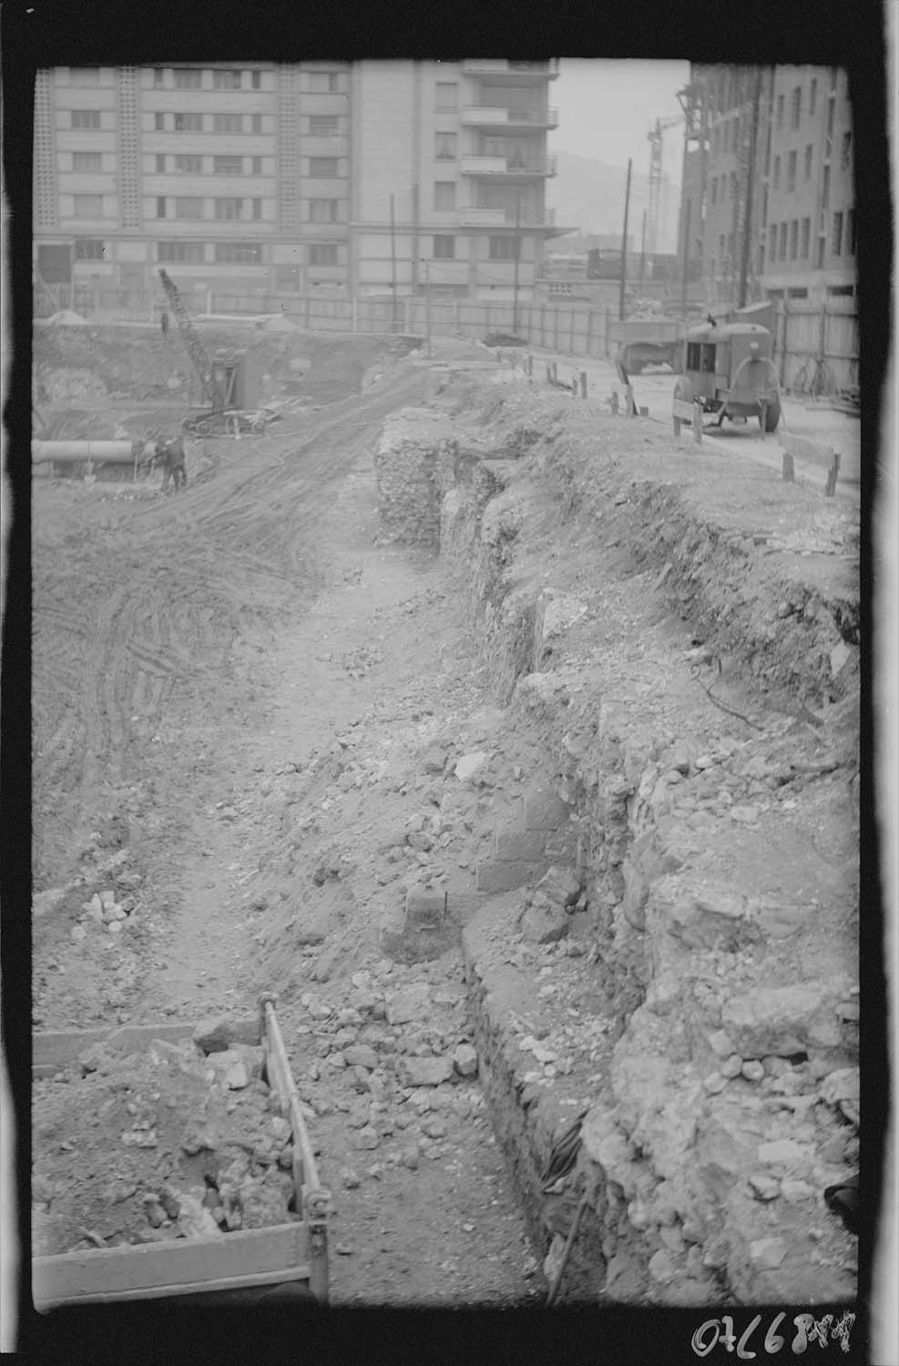
<instances>
[{"instance_id":1,"label":"front wooden side board of the rubble-filled bed at bottom left","mask_svg":"<svg viewBox=\"0 0 899 1366\"><path fill-rule=\"evenodd\" d=\"M184 1238L139 1247L63 1253L36 1257L31 1262L31 1288L38 1309L86 1299L148 1299L301 1276L309 1276L309 1251L307 1225L299 1221L223 1233L216 1239Z\"/></svg>"}]
</instances>

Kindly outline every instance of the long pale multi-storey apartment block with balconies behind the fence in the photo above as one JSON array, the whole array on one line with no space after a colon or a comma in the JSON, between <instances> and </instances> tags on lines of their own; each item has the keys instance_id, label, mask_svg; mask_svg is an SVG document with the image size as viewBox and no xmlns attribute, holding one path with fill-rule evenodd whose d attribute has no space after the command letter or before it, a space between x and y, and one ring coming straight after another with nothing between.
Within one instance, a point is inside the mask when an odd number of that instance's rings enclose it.
<instances>
[{"instance_id":1,"label":"long pale multi-storey apartment block with balconies behind the fence","mask_svg":"<svg viewBox=\"0 0 899 1366\"><path fill-rule=\"evenodd\" d=\"M41 71L36 272L523 301L556 231L556 75L475 59Z\"/></svg>"}]
</instances>

